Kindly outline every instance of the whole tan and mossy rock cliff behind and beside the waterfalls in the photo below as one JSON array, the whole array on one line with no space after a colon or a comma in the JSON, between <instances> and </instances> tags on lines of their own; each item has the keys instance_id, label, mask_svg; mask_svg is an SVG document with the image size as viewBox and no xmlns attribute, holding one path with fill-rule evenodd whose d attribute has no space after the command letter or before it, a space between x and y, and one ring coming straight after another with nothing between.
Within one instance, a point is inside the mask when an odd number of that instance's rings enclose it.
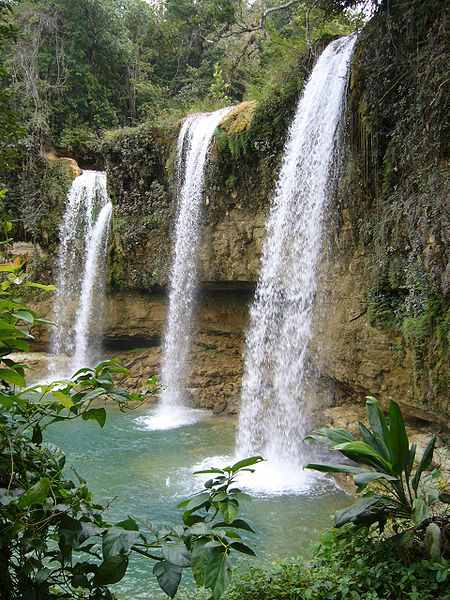
<instances>
[{"instance_id":1,"label":"whole tan and mossy rock cliff behind and beside the waterfalls","mask_svg":"<svg viewBox=\"0 0 450 600\"><path fill-rule=\"evenodd\" d=\"M360 34L354 56L311 360L328 403L360 402L372 393L446 426L445 7L392 4ZM282 94L239 105L215 135L192 354L197 404L236 408L264 223L302 74L313 57L302 60ZM137 387L159 366L176 136L176 126L142 125L111 133L103 144L115 206L106 340L110 348L127 349L129 383Z\"/></svg>"}]
</instances>

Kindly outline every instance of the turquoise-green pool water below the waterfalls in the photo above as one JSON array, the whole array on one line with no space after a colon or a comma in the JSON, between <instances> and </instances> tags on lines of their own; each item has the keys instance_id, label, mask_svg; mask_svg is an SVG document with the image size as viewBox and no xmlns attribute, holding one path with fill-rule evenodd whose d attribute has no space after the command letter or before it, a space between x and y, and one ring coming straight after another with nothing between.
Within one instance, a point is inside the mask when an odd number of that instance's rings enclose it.
<instances>
[{"instance_id":1,"label":"turquoise-green pool water below the waterfalls","mask_svg":"<svg viewBox=\"0 0 450 600\"><path fill-rule=\"evenodd\" d=\"M56 424L48 432L49 441L66 451L67 475L75 478L74 465L95 499L111 503L106 515L111 523L133 515L157 526L179 524L182 511L177 504L202 488L203 480L193 471L234 461L235 425L210 415L190 426L150 432L140 421L145 414L144 407L125 413L110 407L104 429L93 422ZM296 494L252 491L244 496L243 515L256 531L246 539L257 558L240 556L238 569L294 555L309 557L310 544L332 526L334 512L351 503L326 479L315 479ZM162 600L152 569L152 561L133 555L127 576L112 590L121 600ZM189 582L188 573L183 581Z\"/></svg>"}]
</instances>

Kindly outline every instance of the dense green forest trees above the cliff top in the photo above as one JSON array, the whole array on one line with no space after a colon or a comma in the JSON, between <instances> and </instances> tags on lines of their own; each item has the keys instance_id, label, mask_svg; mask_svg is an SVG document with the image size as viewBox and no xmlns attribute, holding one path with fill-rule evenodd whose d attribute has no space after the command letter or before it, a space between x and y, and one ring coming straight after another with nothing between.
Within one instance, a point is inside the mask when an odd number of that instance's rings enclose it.
<instances>
[{"instance_id":1,"label":"dense green forest trees above the cliff top","mask_svg":"<svg viewBox=\"0 0 450 600\"><path fill-rule=\"evenodd\" d=\"M105 129L255 95L314 40L350 31L351 5L2 0L3 89L22 112L28 147L82 155Z\"/></svg>"}]
</instances>

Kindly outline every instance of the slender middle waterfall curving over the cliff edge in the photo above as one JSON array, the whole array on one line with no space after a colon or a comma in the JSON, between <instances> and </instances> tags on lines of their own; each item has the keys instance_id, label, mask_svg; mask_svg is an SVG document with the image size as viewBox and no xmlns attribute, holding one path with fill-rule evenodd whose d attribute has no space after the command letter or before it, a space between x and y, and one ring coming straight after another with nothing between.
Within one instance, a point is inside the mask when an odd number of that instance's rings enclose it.
<instances>
[{"instance_id":1,"label":"slender middle waterfall curving over the cliff edge","mask_svg":"<svg viewBox=\"0 0 450 600\"><path fill-rule=\"evenodd\" d=\"M177 427L193 419L192 412L186 410L186 380L197 288L205 167L214 131L229 110L190 115L178 137L178 206L161 365L159 425L155 422L155 426Z\"/></svg>"}]
</instances>

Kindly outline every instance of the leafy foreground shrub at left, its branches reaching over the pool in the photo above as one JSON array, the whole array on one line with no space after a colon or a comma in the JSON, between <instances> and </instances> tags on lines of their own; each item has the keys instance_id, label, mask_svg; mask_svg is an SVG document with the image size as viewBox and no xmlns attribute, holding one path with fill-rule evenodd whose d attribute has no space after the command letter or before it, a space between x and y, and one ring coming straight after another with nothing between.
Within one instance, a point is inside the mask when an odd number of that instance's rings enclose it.
<instances>
[{"instance_id":1,"label":"leafy foreground shrub at left, its branches reaching over the pool","mask_svg":"<svg viewBox=\"0 0 450 600\"><path fill-rule=\"evenodd\" d=\"M10 241L10 222L3 223ZM237 475L260 457L224 469L204 490L181 503L183 524L154 529L128 517L109 523L86 481L65 476L64 452L45 442L54 423L79 419L105 425L106 402L121 410L141 398L117 387L114 376L127 370L114 360L83 368L70 379L28 386L26 367L11 354L26 352L39 319L18 298L24 287L45 291L27 281L19 259L0 258L0 599L113 598L108 586L126 574L132 552L155 561L153 572L163 591L173 597L184 569L220 598L231 573L230 555L254 555L239 531L251 532L239 518ZM155 389L154 377L149 388Z\"/></svg>"}]
</instances>

